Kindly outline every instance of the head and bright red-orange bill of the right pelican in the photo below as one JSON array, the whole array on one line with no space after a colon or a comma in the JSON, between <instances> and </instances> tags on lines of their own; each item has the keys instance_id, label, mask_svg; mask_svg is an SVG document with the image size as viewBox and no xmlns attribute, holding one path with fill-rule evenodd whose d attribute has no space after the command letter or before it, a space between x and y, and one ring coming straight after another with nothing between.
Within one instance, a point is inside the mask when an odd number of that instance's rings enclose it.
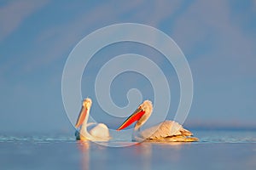
<instances>
[{"instance_id":1,"label":"head and bright red-orange bill of the right pelican","mask_svg":"<svg viewBox=\"0 0 256 170\"><path fill-rule=\"evenodd\" d=\"M145 122L147 122L152 111L153 105L151 101L145 100L143 104L139 105L137 110L134 111L117 130L122 130L125 127L129 127L133 122L137 122L134 129L138 130Z\"/></svg>"}]
</instances>

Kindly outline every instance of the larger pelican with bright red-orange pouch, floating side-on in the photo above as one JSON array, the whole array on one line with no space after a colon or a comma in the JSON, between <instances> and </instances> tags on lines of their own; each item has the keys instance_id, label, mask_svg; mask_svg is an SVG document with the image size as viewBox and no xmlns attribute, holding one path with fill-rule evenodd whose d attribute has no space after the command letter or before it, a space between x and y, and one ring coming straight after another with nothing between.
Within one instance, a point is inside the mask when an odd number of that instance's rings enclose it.
<instances>
[{"instance_id":1,"label":"larger pelican with bright red-orange pouch, floating side-on","mask_svg":"<svg viewBox=\"0 0 256 170\"><path fill-rule=\"evenodd\" d=\"M140 127L147 122L153 111L151 101L145 100L142 105L139 105L137 110L129 116L125 122L117 129L122 130L130 126L133 122L137 122L134 127L135 140L151 141L151 142L193 142L198 141L197 138L191 137L193 133L183 128L182 125L174 121L165 121L160 124L149 127L140 131Z\"/></svg>"}]
</instances>

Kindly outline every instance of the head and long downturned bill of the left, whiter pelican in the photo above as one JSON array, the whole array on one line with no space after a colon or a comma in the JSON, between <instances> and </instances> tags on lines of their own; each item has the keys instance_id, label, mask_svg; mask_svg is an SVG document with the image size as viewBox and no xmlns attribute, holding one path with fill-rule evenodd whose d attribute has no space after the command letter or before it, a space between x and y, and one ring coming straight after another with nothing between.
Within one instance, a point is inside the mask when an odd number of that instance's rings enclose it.
<instances>
[{"instance_id":1,"label":"head and long downturned bill of the left, whiter pelican","mask_svg":"<svg viewBox=\"0 0 256 170\"><path fill-rule=\"evenodd\" d=\"M92 105L92 101L90 98L84 99L82 109L79 113L78 121L75 125L76 128L80 127L83 124L85 116L87 116L89 114L91 105Z\"/></svg>"}]
</instances>

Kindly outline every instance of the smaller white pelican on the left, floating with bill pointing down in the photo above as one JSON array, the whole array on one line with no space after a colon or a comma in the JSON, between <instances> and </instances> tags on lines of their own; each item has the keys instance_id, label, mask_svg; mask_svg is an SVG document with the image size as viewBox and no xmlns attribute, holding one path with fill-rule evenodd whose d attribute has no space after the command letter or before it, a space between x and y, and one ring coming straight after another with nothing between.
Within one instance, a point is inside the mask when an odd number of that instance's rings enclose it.
<instances>
[{"instance_id":1,"label":"smaller white pelican on the left, floating with bill pointing down","mask_svg":"<svg viewBox=\"0 0 256 170\"><path fill-rule=\"evenodd\" d=\"M75 127L77 131L75 133L76 139L80 140L92 140L92 141L108 141L110 139L107 125L103 123L88 122L90 106L92 101L90 98L86 98L83 101L82 109L79 113L79 118ZM90 132L87 131L87 127L96 124ZM81 126L81 127L80 127ZM79 131L80 127L80 131Z\"/></svg>"}]
</instances>

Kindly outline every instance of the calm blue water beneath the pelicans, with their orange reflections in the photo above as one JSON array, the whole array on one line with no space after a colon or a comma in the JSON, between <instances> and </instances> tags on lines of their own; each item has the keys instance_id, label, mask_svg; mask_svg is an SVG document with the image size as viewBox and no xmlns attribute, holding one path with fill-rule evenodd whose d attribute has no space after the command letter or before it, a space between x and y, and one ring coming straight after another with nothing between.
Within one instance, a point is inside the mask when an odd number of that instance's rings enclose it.
<instances>
[{"instance_id":1,"label":"calm blue water beneath the pelicans, with their orange reflections","mask_svg":"<svg viewBox=\"0 0 256 170\"><path fill-rule=\"evenodd\" d=\"M255 131L194 134L200 142L119 148L80 143L73 134L0 134L0 169L256 169Z\"/></svg>"}]
</instances>

